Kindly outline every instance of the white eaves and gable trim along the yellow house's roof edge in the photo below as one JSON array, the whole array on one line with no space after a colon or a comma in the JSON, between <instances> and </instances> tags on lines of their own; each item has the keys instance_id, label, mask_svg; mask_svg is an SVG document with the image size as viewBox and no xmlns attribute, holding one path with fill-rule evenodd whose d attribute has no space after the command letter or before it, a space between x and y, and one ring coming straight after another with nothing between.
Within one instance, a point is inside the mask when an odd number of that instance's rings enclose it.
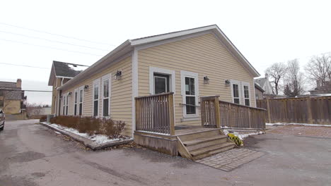
<instances>
[{"instance_id":1,"label":"white eaves and gable trim along the yellow house's roof edge","mask_svg":"<svg viewBox=\"0 0 331 186\"><path fill-rule=\"evenodd\" d=\"M178 32L170 32L162 35L154 35L150 37L142 37L139 39L128 39L120 46L117 46L114 50L110 51L106 56L103 56L103 58L100 58L97 62L95 62L92 66L87 68L86 70L83 70L83 72L79 73L79 75L76 75L76 77L72 78L68 82L66 82L64 85L58 88L58 90L61 89L67 89L68 87L71 87L71 85L76 84L77 82L81 82L83 80L88 79L95 73L99 73L101 70L105 69L106 67L110 66L114 61L116 61L118 58L121 58L121 56L124 56L125 54L128 54L129 52L132 52L134 47L141 46L145 44L151 44L154 42L160 42L166 39L173 39L176 37L182 37L185 35L192 35L196 34L198 32L205 32L205 31L211 31L214 32L216 37L218 37L219 40L223 44L226 45L227 49L231 51L231 54L235 56L240 63L243 64L245 69L247 69L250 74L252 74L253 77L259 77L260 73L255 70L255 68L248 62L248 60L243 56L243 54L240 53L240 51L234 46L234 44L226 37L226 35L221 31L221 29L217 25L209 25L205 27L197 27L190 30L182 30Z\"/></svg>"}]
</instances>

